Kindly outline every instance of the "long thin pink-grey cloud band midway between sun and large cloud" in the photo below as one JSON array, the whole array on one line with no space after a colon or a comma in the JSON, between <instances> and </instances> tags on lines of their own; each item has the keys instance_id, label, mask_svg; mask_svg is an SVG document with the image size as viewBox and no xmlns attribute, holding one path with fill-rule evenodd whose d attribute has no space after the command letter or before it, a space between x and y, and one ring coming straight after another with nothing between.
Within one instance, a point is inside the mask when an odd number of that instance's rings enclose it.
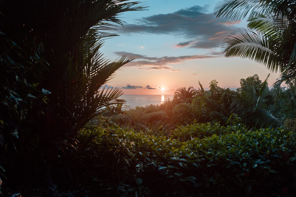
<instances>
[{"instance_id":1,"label":"long thin pink-grey cloud band midway between sun and large cloud","mask_svg":"<svg viewBox=\"0 0 296 197\"><path fill-rule=\"evenodd\" d=\"M186 60L196 60L196 59L206 59L206 58L216 58L218 56L209 56L209 55L194 55L194 56L176 56L176 57L147 57L135 53L127 53L127 52L115 52L116 55L123 56L123 55L130 55L136 59L144 59L139 61L131 61L124 65L126 66L135 66L135 67L144 67L138 68L141 70L163 70L163 69L171 69L171 66L168 64L180 64ZM145 68L147 66L151 66L149 68Z\"/></svg>"}]
</instances>

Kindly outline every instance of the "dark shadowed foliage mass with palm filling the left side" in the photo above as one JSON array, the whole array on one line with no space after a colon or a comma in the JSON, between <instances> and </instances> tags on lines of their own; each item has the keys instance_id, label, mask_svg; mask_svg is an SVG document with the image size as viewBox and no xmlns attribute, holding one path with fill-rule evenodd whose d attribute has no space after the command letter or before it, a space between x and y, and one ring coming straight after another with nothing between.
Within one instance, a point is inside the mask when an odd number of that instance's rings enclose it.
<instances>
[{"instance_id":1,"label":"dark shadowed foliage mass with palm filling the left side","mask_svg":"<svg viewBox=\"0 0 296 197\"><path fill-rule=\"evenodd\" d=\"M126 0L0 1L0 164L7 184L53 187L62 170L67 177L78 131L107 105L122 103L115 100L119 89L101 86L132 59L104 58L104 39L116 36L106 30L124 25L120 13L141 9Z\"/></svg>"}]
</instances>

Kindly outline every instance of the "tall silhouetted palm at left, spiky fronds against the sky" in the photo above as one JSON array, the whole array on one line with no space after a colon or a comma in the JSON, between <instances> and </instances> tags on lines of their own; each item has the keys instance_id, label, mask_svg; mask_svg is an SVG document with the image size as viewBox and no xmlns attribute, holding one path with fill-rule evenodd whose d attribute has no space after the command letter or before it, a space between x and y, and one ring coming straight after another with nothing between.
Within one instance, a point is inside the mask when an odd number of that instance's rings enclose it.
<instances>
[{"instance_id":1,"label":"tall silhouetted palm at left, spiky fronds against the sky","mask_svg":"<svg viewBox=\"0 0 296 197\"><path fill-rule=\"evenodd\" d=\"M116 36L110 33L114 24L124 25L118 15L142 10L138 4L127 0L0 1L3 31L28 57L48 64L30 72L38 87L51 92L52 118L48 120L68 117L79 129L106 105L116 103L122 92L100 87L132 58L109 61L99 50L104 39Z\"/></svg>"}]
</instances>

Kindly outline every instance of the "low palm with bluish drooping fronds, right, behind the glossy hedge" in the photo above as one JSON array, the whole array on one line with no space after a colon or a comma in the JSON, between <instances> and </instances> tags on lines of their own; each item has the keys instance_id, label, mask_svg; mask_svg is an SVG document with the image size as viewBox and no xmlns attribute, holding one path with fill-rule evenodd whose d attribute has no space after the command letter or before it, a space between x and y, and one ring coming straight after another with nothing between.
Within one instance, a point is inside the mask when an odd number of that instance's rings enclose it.
<instances>
[{"instance_id":1,"label":"low palm with bluish drooping fronds, right, behind the glossy hedge","mask_svg":"<svg viewBox=\"0 0 296 197\"><path fill-rule=\"evenodd\" d=\"M246 84L245 88L238 91L232 99L230 112L242 118L242 123L245 125L257 128L276 128L283 125L284 117L295 116L295 111L289 110L287 100L279 99L269 103L267 78L260 85L259 92L256 91L254 84ZM223 122L228 119L218 112L212 112L211 115Z\"/></svg>"}]
</instances>

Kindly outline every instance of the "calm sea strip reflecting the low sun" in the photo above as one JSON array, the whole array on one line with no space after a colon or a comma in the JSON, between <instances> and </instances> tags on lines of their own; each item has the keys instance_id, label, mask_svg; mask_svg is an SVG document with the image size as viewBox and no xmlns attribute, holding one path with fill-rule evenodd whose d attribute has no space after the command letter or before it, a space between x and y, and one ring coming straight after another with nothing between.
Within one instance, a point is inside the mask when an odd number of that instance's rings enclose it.
<instances>
[{"instance_id":1,"label":"calm sea strip reflecting the low sun","mask_svg":"<svg viewBox=\"0 0 296 197\"><path fill-rule=\"evenodd\" d=\"M125 105L131 107L145 107L146 105L160 105L165 100L173 99L173 95L121 95L118 99L126 100Z\"/></svg>"}]
</instances>

